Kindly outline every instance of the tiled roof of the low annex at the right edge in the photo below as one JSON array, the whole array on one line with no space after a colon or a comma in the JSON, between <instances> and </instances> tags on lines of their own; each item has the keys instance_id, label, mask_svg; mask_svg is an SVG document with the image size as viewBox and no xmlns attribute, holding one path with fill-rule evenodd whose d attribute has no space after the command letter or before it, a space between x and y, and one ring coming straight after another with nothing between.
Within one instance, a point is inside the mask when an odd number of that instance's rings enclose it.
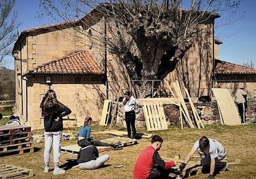
<instances>
[{"instance_id":1,"label":"tiled roof of the low annex at the right edge","mask_svg":"<svg viewBox=\"0 0 256 179\"><path fill-rule=\"evenodd\" d=\"M215 73L217 74L256 74L256 69L239 64L232 64L216 60Z\"/></svg>"}]
</instances>

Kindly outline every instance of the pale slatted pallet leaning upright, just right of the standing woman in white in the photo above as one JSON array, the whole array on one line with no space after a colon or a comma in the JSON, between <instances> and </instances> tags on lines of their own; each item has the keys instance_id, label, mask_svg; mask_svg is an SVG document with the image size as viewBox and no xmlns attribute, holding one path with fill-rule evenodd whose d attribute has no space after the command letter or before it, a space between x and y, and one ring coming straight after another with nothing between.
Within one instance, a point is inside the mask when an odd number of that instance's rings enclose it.
<instances>
[{"instance_id":1,"label":"pale slatted pallet leaning upright, just right of the standing woman in white","mask_svg":"<svg viewBox=\"0 0 256 179\"><path fill-rule=\"evenodd\" d=\"M143 104L145 124L148 131L168 129L162 103L152 102Z\"/></svg>"}]
</instances>

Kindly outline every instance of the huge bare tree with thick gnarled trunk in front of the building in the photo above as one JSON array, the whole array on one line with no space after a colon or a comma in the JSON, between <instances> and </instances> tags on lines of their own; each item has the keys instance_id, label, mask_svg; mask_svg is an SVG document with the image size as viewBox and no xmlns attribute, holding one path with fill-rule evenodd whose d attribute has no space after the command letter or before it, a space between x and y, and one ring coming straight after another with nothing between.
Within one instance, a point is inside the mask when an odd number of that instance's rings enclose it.
<instances>
[{"instance_id":1,"label":"huge bare tree with thick gnarled trunk in front of the building","mask_svg":"<svg viewBox=\"0 0 256 179\"><path fill-rule=\"evenodd\" d=\"M183 10L182 0L41 0L43 15L55 20L60 17L74 28L74 22L90 27L92 22L83 17L96 8L103 16L92 17L91 21L106 18L112 35L91 38L101 49L106 45L108 52L125 64L131 80L142 80L136 83L138 86L151 85L147 80L164 79L191 48L203 30L201 24L213 21L221 10L234 12L239 5L240 1L232 0L192 0ZM76 29L92 35L83 28Z\"/></svg>"}]
</instances>

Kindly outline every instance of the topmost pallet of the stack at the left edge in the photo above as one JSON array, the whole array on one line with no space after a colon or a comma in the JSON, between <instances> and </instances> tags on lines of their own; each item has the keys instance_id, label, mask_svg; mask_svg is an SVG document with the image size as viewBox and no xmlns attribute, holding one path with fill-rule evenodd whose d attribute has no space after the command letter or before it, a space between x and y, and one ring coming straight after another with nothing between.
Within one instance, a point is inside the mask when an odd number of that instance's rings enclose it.
<instances>
[{"instance_id":1,"label":"topmost pallet of the stack at the left edge","mask_svg":"<svg viewBox=\"0 0 256 179\"><path fill-rule=\"evenodd\" d=\"M31 127L16 126L16 125L4 125L0 127L0 136L10 136L13 134L19 134L20 132L30 132Z\"/></svg>"}]
</instances>

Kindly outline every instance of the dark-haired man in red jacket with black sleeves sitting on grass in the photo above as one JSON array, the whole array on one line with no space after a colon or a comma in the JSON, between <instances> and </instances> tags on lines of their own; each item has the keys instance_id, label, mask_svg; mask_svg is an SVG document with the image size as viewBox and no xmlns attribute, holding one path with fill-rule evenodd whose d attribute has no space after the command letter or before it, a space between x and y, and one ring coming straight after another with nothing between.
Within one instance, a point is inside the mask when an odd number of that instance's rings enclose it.
<instances>
[{"instance_id":1,"label":"dark-haired man in red jacket with black sleeves sitting on grass","mask_svg":"<svg viewBox=\"0 0 256 179\"><path fill-rule=\"evenodd\" d=\"M159 156L163 141L160 136L152 136L151 145L141 152L134 165L134 179L168 178L168 169L176 166L176 162L164 162Z\"/></svg>"}]
</instances>

